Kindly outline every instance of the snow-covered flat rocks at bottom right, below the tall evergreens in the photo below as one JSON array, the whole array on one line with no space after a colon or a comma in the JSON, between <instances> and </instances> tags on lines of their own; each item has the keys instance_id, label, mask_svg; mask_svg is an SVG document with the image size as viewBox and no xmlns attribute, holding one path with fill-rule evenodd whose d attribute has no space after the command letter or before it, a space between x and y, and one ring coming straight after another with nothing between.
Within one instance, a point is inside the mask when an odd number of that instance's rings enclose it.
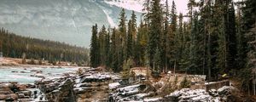
<instances>
[{"instance_id":1,"label":"snow-covered flat rocks at bottom right, below the tall evergreens","mask_svg":"<svg viewBox=\"0 0 256 102\"><path fill-rule=\"evenodd\" d=\"M118 83L110 83L111 88L116 88ZM109 88L110 88L109 87ZM131 85L123 88L117 88L116 91L110 94L110 98L113 101L144 101L144 102L166 102L166 101L178 101L178 102L222 102L229 101L229 97L235 88L230 86L224 86L218 90L212 89L207 92L204 89L189 89L183 88L177 90L164 97L153 95L155 92L143 92L140 89L141 85ZM153 91L153 90L152 90Z\"/></svg>"}]
</instances>

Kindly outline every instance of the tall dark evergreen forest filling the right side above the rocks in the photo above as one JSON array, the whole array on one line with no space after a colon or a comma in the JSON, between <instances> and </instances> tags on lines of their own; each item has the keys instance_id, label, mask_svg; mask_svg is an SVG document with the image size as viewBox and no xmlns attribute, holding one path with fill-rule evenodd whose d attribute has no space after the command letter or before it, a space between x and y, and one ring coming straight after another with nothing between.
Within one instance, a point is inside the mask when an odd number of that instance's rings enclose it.
<instances>
[{"instance_id":1,"label":"tall dark evergreen forest filling the right side above the rocks","mask_svg":"<svg viewBox=\"0 0 256 102\"><path fill-rule=\"evenodd\" d=\"M177 14L175 2L145 0L143 20L119 14L118 28L92 26L90 65L127 71L150 67L154 73L178 71L237 77L247 87L256 67L256 1L189 0L188 14ZM235 9L236 8L236 9Z\"/></svg>"}]
</instances>

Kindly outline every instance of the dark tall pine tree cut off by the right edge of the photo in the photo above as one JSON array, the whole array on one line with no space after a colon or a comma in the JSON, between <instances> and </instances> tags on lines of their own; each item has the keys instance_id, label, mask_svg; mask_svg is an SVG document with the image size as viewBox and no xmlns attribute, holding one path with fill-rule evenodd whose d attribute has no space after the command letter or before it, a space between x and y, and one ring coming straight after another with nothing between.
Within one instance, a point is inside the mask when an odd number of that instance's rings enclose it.
<instances>
[{"instance_id":1,"label":"dark tall pine tree cut off by the right edge of the photo","mask_svg":"<svg viewBox=\"0 0 256 102\"><path fill-rule=\"evenodd\" d=\"M256 66L256 1L246 0L245 7L243 8L243 23L242 28L246 33L247 38L247 65L246 68L241 70L241 82L243 88L246 88L248 94L250 94L249 81L253 78L255 80L255 66ZM255 89L255 88L254 88ZM255 92L255 90L254 90ZM255 95L255 93L253 94Z\"/></svg>"}]
</instances>

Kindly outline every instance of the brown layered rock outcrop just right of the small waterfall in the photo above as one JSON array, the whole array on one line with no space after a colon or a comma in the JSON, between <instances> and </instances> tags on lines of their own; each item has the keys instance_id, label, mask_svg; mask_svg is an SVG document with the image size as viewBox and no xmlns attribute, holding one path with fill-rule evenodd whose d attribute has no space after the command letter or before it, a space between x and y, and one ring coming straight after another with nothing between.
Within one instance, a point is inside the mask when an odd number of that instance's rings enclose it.
<instances>
[{"instance_id":1,"label":"brown layered rock outcrop just right of the small waterfall","mask_svg":"<svg viewBox=\"0 0 256 102\"><path fill-rule=\"evenodd\" d=\"M113 82L114 74L90 68L84 68L82 73L43 79L36 85L49 102L107 101L108 83Z\"/></svg>"}]
</instances>

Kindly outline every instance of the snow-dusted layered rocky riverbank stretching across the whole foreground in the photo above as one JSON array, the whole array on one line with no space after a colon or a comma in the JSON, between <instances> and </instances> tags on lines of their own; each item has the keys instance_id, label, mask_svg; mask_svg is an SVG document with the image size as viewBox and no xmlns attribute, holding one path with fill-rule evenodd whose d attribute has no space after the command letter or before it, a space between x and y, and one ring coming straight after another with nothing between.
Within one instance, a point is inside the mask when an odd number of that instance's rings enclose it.
<instances>
[{"instance_id":1,"label":"snow-dusted layered rocky riverbank stretching across the whole foreground","mask_svg":"<svg viewBox=\"0 0 256 102\"><path fill-rule=\"evenodd\" d=\"M169 76L166 76L169 77ZM121 80L119 74L102 68L80 68L77 72L63 73L61 77L43 77L34 84L17 82L0 83L0 100L38 101L38 102L122 102L122 101L235 101L237 89L223 87L219 89L181 88L165 95L165 83L135 77ZM160 85L161 84L161 85Z\"/></svg>"}]
</instances>

